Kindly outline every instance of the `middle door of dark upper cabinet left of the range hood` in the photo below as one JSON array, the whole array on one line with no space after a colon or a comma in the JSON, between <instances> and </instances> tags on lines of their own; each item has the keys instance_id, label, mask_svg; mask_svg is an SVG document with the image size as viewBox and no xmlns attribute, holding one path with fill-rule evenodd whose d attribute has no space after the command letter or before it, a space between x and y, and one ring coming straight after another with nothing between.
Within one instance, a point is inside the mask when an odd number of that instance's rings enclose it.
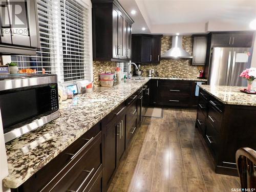
<instances>
[{"instance_id":1,"label":"middle door of dark upper cabinet left of the range hood","mask_svg":"<svg viewBox=\"0 0 256 192\"><path fill-rule=\"evenodd\" d=\"M152 61L152 37L141 37L141 62Z\"/></svg>"}]
</instances>

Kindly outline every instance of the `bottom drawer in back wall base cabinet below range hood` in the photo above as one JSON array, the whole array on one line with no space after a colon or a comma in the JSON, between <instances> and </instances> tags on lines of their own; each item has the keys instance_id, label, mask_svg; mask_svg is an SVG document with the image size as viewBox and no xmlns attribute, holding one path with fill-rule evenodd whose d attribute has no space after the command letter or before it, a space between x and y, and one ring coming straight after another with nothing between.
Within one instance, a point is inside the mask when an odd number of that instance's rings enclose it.
<instances>
[{"instance_id":1,"label":"bottom drawer in back wall base cabinet below range hood","mask_svg":"<svg viewBox=\"0 0 256 192\"><path fill-rule=\"evenodd\" d=\"M159 103L175 106L188 106L190 95L169 94L167 91L159 92Z\"/></svg>"}]
</instances>

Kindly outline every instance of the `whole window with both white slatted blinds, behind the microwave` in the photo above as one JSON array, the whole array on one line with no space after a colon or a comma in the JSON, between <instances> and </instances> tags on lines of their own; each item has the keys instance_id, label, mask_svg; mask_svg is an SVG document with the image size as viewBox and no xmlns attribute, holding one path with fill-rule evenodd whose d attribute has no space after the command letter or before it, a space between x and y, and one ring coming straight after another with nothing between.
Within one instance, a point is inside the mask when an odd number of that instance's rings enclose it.
<instances>
[{"instance_id":1,"label":"whole window with both white slatted blinds, behind the microwave","mask_svg":"<svg viewBox=\"0 0 256 192\"><path fill-rule=\"evenodd\" d=\"M58 75L60 82L92 80L90 6L75 0L37 0L40 49L11 56L20 69Z\"/></svg>"}]
</instances>

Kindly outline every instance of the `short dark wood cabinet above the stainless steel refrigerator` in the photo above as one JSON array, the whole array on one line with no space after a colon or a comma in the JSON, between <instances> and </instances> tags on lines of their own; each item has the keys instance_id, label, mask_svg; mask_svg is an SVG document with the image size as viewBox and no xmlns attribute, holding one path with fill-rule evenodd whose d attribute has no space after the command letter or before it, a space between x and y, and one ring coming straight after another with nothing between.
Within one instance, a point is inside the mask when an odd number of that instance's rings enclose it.
<instances>
[{"instance_id":1,"label":"short dark wood cabinet above the stainless steel refrigerator","mask_svg":"<svg viewBox=\"0 0 256 192\"><path fill-rule=\"evenodd\" d=\"M254 32L212 33L211 46L214 47L251 47Z\"/></svg>"}]
</instances>

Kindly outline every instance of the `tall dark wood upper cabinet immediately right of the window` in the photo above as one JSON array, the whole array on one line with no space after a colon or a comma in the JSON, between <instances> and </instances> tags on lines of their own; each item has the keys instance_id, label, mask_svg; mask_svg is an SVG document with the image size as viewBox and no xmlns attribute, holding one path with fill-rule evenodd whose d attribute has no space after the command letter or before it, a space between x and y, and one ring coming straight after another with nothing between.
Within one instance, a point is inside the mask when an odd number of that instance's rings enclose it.
<instances>
[{"instance_id":1,"label":"tall dark wood upper cabinet immediately right of the window","mask_svg":"<svg viewBox=\"0 0 256 192\"><path fill-rule=\"evenodd\" d=\"M92 3L93 59L130 60L132 18L116 0L92 0Z\"/></svg>"}]
</instances>

